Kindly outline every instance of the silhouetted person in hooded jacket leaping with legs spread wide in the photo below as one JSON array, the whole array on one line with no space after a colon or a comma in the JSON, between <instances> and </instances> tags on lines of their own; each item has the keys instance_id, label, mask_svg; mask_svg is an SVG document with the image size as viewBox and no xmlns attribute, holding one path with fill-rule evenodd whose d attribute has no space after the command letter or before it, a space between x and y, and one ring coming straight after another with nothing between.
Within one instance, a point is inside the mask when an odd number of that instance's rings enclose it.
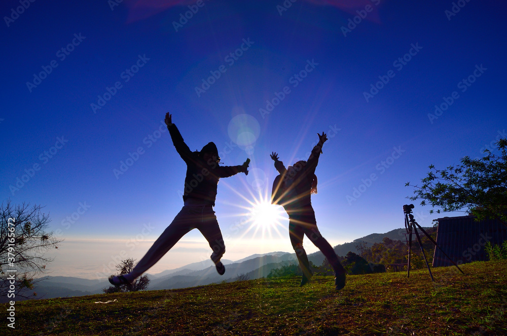
<instances>
[{"instance_id":1,"label":"silhouetted person in hooded jacket leaping with legs spread wide","mask_svg":"<svg viewBox=\"0 0 507 336\"><path fill-rule=\"evenodd\" d=\"M220 166L220 157L214 143L208 143L200 152L191 152L176 125L172 123L172 115L169 113L165 115L165 123L176 151L187 163L187 177L183 194L184 207L139 260L132 272L109 278L109 282L115 286L132 283L159 261L185 234L195 228L201 231L208 241L209 247L213 250L211 260L215 263L216 271L220 275L225 273L225 267L220 261L225 253L225 244L213 211L216 187L221 177L229 177L238 173L248 174L250 160L246 159L242 165Z\"/></svg>"}]
</instances>

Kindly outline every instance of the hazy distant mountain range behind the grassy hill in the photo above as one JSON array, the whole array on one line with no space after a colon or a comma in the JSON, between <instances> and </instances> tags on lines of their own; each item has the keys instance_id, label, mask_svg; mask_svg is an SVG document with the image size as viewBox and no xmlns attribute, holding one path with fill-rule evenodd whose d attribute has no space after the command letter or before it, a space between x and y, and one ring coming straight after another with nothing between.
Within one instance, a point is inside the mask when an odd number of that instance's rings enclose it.
<instances>
[{"instance_id":1,"label":"hazy distant mountain range behind the grassy hill","mask_svg":"<svg viewBox=\"0 0 507 336\"><path fill-rule=\"evenodd\" d=\"M384 237L393 240L405 241L403 234L405 229L395 229L386 233L372 233L366 237L358 238L350 243L337 245L334 247L336 254L345 256L349 251L357 253L356 245L358 243L367 243L372 246L374 243L382 242ZM311 244L305 240L306 245ZM320 265L324 256L320 251L309 254L308 259L316 265ZM216 273L214 264L211 260L195 262L183 267L167 270L158 274L148 274L150 285L148 289L176 289L208 285L211 283L220 283L223 281L235 281L239 275L244 275L248 279L259 279L266 277L273 268L279 268L283 265L297 264L295 253L271 252L267 254L253 254L237 261L223 260L226 265L226 273L220 276ZM41 280L34 286L37 292L37 298L83 296L103 293L102 289L108 288L110 283L104 280L88 280L75 277L48 277Z\"/></svg>"}]
</instances>

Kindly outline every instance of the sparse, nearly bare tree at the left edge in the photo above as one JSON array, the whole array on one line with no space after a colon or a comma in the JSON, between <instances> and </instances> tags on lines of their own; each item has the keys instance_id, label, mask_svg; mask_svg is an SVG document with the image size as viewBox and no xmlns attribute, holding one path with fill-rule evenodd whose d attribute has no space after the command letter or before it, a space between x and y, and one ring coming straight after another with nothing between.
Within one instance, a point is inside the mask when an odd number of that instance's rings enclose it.
<instances>
[{"instance_id":1,"label":"sparse, nearly bare tree at the left edge","mask_svg":"<svg viewBox=\"0 0 507 336\"><path fill-rule=\"evenodd\" d=\"M35 296L30 289L42 279L34 280L34 277L45 274L46 266L53 261L45 253L57 249L62 242L48 231L51 220L41 210L38 205L15 206L10 199L0 206L0 295L3 297L8 293L25 298ZM10 291L12 275L15 275L14 292Z\"/></svg>"}]
</instances>

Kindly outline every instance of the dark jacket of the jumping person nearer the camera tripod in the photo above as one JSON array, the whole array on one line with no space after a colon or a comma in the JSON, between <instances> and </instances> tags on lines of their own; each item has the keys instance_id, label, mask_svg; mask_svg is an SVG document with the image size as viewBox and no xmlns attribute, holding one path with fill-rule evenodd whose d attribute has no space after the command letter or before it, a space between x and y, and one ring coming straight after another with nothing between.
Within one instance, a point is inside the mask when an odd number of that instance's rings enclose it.
<instances>
[{"instance_id":1,"label":"dark jacket of the jumping person nearer the camera tripod","mask_svg":"<svg viewBox=\"0 0 507 336\"><path fill-rule=\"evenodd\" d=\"M295 174L293 176L290 176L282 161L275 161L275 168L280 175L275 178L273 183L272 204L281 205L287 213L312 206L310 189L320 153L320 146L313 147L306 165L294 166Z\"/></svg>"}]
</instances>

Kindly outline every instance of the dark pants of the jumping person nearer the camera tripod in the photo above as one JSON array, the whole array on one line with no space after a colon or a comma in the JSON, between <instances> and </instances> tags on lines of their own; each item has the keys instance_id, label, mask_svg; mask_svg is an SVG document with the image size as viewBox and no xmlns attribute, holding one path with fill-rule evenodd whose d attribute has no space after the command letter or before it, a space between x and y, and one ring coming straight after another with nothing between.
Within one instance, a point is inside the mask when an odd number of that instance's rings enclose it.
<instances>
[{"instance_id":1,"label":"dark pants of the jumping person nearer the camera tripod","mask_svg":"<svg viewBox=\"0 0 507 336\"><path fill-rule=\"evenodd\" d=\"M303 277L311 277L310 263L308 256L303 248L303 238L306 237L322 252L328 259L335 272L341 272L343 266L341 265L338 257L333 250L333 247L322 237L317 228L317 221L315 220L315 212L311 207L305 207L296 211L288 211L288 231L291 238L291 244L298 256Z\"/></svg>"}]
</instances>

